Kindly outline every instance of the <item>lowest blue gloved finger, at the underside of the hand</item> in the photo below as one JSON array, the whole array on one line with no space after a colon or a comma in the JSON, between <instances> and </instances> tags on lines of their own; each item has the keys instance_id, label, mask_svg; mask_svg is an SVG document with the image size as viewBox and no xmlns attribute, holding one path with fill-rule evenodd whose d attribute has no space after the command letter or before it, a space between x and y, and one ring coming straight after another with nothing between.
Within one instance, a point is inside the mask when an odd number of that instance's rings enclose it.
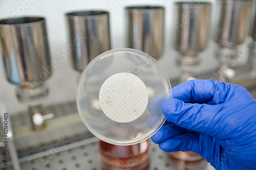
<instances>
[{"instance_id":1,"label":"lowest blue gloved finger, at the underside of the hand","mask_svg":"<svg viewBox=\"0 0 256 170\"><path fill-rule=\"evenodd\" d=\"M199 137L197 134L181 134L171 137L159 144L159 148L165 152L192 151L199 153Z\"/></svg>"}]
</instances>

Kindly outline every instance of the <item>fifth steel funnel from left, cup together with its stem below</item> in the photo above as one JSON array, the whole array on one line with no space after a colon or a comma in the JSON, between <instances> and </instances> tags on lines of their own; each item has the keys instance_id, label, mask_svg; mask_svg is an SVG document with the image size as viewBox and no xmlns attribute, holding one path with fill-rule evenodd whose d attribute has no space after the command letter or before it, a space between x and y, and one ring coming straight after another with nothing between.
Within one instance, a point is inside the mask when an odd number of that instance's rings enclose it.
<instances>
[{"instance_id":1,"label":"fifth steel funnel from left, cup together with its stem below","mask_svg":"<svg viewBox=\"0 0 256 170\"><path fill-rule=\"evenodd\" d=\"M216 52L221 63L220 81L230 82L236 76L230 67L236 63L237 45L243 43L248 36L251 7L252 0L218 0L216 3L214 40L221 48Z\"/></svg>"}]
</instances>

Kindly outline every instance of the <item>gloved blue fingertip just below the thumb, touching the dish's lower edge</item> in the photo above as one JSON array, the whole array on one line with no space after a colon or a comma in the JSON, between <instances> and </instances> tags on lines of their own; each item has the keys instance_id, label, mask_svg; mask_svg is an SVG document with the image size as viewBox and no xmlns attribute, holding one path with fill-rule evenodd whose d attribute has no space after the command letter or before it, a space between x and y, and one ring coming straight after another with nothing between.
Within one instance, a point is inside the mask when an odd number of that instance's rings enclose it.
<instances>
[{"instance_id":1,"label":"gloved blue fingertip just below the thumb, touching the dish's lower edge","mask_svg":"<svg viewBox=\"0 0 256 170\"><path fill-rule=\"evenodd\" d=\"M163 142L164 140L185 133L187 130L184 128L181 128L175 124L169 123L167 125L163 125L157 133L155 133L151 139L153 142L159 144Z\"/></svg>"}]
</instances>

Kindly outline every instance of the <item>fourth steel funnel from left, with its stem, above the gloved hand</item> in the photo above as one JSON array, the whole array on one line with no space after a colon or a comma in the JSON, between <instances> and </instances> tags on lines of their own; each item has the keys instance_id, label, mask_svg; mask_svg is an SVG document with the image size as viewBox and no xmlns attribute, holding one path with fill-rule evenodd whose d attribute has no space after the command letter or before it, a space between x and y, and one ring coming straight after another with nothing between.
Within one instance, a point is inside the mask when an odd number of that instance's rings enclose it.
<instances>
[{"instance_id":1,"label":"fourth steel funnel from left, with its stem, above the gloved hand","mask_svg":"<svg viewBox=\"0 0 256 170\"><path fill-rule=\"evenodd\" d=\"M199 64L197 54L205 50L208 44L210 24L210 3L179 2L175 3L174 42L173 46L181 54L180 82L193 77L194 69Z\"/></svg>"}]
</instances>

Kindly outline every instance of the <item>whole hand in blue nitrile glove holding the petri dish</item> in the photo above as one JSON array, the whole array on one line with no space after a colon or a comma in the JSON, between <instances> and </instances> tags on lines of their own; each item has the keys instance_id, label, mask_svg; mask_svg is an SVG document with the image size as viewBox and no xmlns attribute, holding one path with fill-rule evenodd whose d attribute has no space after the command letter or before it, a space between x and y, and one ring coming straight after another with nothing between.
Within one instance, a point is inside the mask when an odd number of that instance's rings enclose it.
<instances>
[{"instance_id":1,"label":"whole hand in blue nitrile glove holding the petri dish","mask_svg":"<svg viewBox=\"0 0 256 170\"><path fill-rule=\"evenodd\" d=\"M167 121L152 140L163 151L199 153L216 169L256 169L256 101L245 88L190 80L161 109Z\"/></svg>"}]
</instances>

